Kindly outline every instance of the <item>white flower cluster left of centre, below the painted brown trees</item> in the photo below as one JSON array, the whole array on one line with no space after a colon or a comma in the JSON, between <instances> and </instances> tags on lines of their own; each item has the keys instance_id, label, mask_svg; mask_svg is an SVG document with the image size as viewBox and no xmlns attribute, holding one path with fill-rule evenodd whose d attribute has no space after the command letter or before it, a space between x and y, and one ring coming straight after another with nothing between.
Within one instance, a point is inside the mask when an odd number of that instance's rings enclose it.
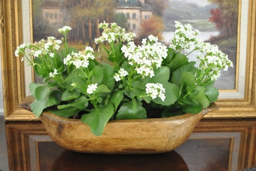
<instances>
[{"instance_id":1,"label":"white flower cluster left of centre, below the painted brown trees","mask_svg":"<svg viewBox=\"0 0 256 171\"><path fill-rule=\"evenodd\" d=\"M93 49L87 46L84 51L79 51L78 53L72 52L64 58L63 63L65 65L75 65L76 68L84 67L87 68L89 65L89 59L94 59Z\"/></svg>"}]
</instances>

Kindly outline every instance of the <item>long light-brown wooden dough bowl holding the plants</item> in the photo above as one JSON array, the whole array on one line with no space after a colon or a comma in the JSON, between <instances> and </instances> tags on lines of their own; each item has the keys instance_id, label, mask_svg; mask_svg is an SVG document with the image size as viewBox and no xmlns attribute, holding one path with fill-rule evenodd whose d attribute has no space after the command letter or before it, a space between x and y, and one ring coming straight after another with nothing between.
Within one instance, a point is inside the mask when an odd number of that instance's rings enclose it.
<instances>
[{"instance_id":1,"label":"long light-brown wooden dough bowl holding the plants","mask_svg":"<svg viewBox=\"0 0 256 171\"><path fill-rule=\"evenodd\" d=\"M141 120L111 120L101 136L91 133L80 120L43 112L40 119L49 136L61 147L83 153L156 154L185 142L204 114L216 110L213 103L199 114Z\"/></svg>"}]
</instances>

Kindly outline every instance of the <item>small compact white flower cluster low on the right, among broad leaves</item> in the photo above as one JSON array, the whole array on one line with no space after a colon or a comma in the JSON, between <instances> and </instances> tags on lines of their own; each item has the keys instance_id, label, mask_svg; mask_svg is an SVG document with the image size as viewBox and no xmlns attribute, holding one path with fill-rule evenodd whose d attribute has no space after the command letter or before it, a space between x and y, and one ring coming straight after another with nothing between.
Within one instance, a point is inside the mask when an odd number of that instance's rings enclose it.
<instances>
[{"instance_id":1,"label":"small compact white flower cluster low on the right, among broad leaves","mask_svg":"<svg viewBox=\"0 0 256 171\"><path fill-rule=\"evenodd\" d=\"M160 97L163 102L165 101L165 88L162 84L147 83L146 94L150 95L152 99Z\"/></svg>"}]
</instances>

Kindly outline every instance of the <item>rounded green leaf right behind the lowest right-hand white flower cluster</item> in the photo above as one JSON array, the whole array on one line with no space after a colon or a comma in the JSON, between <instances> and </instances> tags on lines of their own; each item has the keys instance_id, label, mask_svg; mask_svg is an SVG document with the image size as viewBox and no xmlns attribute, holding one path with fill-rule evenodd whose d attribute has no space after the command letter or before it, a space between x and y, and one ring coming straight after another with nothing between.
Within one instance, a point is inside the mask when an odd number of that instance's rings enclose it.
<instances>
[{"instance_id":1,"label":"rounded green leaf right behind the lowest right-hand white flower cluster","mask_svg":"<svg viewBox=\"0 0 256 171\"><path fill-rule=\"evenodd\" d=\"M179 96L179 87L173 83L167 83L164 85L165 88L165 101L163 102L161 98L157 97L152 101L157 104L161 104L163 106L170 106L175 103Z\"/></svg>"}]
</instances>

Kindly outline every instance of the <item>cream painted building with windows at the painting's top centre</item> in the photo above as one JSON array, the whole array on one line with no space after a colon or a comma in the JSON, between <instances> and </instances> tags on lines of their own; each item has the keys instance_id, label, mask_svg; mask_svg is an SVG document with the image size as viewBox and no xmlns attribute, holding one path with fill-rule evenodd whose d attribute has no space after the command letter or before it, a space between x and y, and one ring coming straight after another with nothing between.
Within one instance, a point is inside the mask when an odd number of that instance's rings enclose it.
<instances>
[{"instance_id":1,"label":"cream painted building with windows at the painting's top centre","mask_svg":"<svg viewBox=\"0 0 256 171\"><path fill-rule=\"evenodd\" d=\"M128 29L138 34L142 21L152 16L152 7L145 0L119 0L116 12L124 13Z\"/></svg>"}]
</instances>

